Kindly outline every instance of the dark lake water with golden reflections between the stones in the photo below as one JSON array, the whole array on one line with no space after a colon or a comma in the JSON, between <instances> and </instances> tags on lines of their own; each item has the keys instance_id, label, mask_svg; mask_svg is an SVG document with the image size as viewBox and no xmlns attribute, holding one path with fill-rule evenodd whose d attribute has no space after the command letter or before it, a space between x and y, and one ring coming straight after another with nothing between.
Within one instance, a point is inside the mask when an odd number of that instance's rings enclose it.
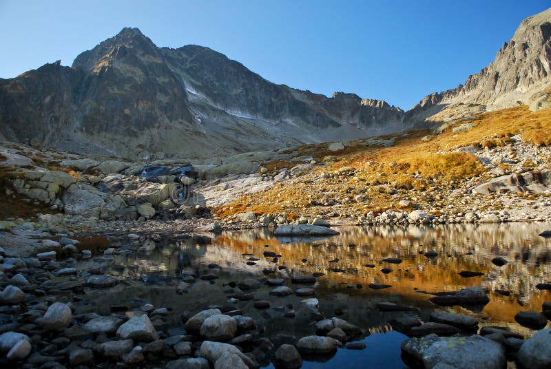
<instances>
[{"instance_id":1,"label":"dark lake water with golden reflections between the stones","mask_svg":"<svg viewBox=\"0 0 551 369\"><path fill-rule=\"evenodd\" d=\"M332 238L290 240L275 238L268 229L227 232L222 235L183 236L180 238L152 235L152 251L137 253L134 242L120 237L114 240L119 255L105 262L88 260L79 268L105 266L107 273L124 277L126 283L109 290L89 291L78 306L81 312L96 311L108 314L112 304L127 304L130 308L144 302L156 307L171 308L171 324L181 326L180 313L196 312L209 305L225 304L242 309L264 326L262 335L269 337L277 348L282 343L313 334L311 315L302 300L307 297L274 297L273 287L262 285L253 290L254 299L228 303L228 282L246 277L284 277L324 273L315 284L315 298L326 317L342 310L342 319L368 330L362 341L364 350L339 349L327 361L307 361L304 368L403 368L399 345L407 337L393 332L388 321L404 313L384 313L375 308L377 302L397 302L421 309L422 318L435 309L473 315L480 326L506 326L529 337L533 331L519 326L514 315L521 310L541 311L545 301L551 301L550 291L535 288L537 283L551 280L551 239L538 236L551 229L545 223L510 224L450 224L429 227L346 227ZM138 244L142 244L139 242ZM426 251L434 250L437 257L429 258ZM264 251L282 255L274 263L264 257ZM248 254L248 255L243 255ZM501 256L505 266L495 266L491 260ZM250 257L259 260L247 265ZM382 262L385 257L399 257L401 264ZM306 262L302 262L306 259ZM208 268L216 263L220 268ZM366 264L375 264L368 267ZM278 266L286 266L278 269ZM382 268L391 268L388 274ZM262 271L271 269L266 275ZM479 271L481 277L464 278L459 271ZM176 285L185 273L217 274L214 284L198 279L191 291L176 294ZM368 284L391 284L391 288L375 291ZM298 288L290 281L285 285ZM482 286L489 291L490 303L468 310L458 306L441 308L428 301L439 291L458 291L470 286ZM359 288L360 287L360 288ZM240 292L233 288L234 292ZM496 291L501 291L498 293ZM248 291L247 291L248 292ZM509 295L503 295L508 293ZM268 310L253 308L255 300L271 302ZM296 317L284 317L284 306L293 304ZM263 363L269 364L269 358Z\"/></svg>"}]
</instances>

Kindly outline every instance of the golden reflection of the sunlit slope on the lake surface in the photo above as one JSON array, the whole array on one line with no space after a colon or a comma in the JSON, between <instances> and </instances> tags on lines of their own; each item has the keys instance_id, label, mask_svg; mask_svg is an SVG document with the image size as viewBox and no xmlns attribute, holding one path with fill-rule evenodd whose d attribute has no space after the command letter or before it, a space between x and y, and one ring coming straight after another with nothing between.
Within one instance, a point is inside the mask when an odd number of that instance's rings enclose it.
<instances>
[{"instance_id":1,"label":"golden reflection of the sunlit slope on the lake surface","mask_svg":"<svg viewBox=\"0 0 551 369\"><path fill-rule=\"evenodd\" d=\"M513 321L519 310L541 310L551 300L549 291L535 285L551 279L551 240L538 234L551 229L544 223L449 224L436 227L373 226L346 227L340 235L314 242L281 244L268 229L227 232L211 244L194 238L158 242L149 255L117 256L125 264L125 277L139 278L156 273L179 276L183 271L198 274L236 273L260 276L265 269L289 277L296 273L324 273L318 280L319 295L344 293L359 298L387 299L402 295L408 301L426 304L430 295L415 292L456 291L468 286L483 286L488 291L507 291L510 296L490 294L483 315L499 321ZM204 241L204 240L203 240ZM429 250L439 255L425 257ZM264 257L264 251L282 255L277 262ZM247 265L251 254L254 265ZM505 266L492 264L493 257L508 260ZM382 262L385 257L400 257L401 264ZM306 259L306 262L302 262ZM336 261L338 260L338 261ZM209 269L210 263L218 264ZM375 264L374 268L366 266ZM287 268L279 269L278 266ZM391 268L384 274L381 268ZM464 278L461 270L480 271L483 277ZM392 288L373 291L370 283L391 284ZM357 288L360 284L363 288ZM363 296L363 297L362 297Z\"/></svg>"}]
</instances>

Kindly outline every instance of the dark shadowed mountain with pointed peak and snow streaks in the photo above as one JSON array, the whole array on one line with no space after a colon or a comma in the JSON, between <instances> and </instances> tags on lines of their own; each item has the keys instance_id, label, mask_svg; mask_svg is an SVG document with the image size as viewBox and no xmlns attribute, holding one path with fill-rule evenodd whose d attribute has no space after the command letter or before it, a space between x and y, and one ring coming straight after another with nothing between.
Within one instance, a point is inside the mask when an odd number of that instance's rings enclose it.
<instances>
[{"instance_id":1,"label":"dark shadowed mountain with pointed peak and snow streaks","mask_svg":"<svg viewBox=\"0 0 551 369\"><path fill-rule=\"evenodd\" d=\"M209 48L158 48L125 28L72 67L0 79L0 134L127 158L224 156L404 129L384 102L264 80Z\"/></svg>"}]
</instances>

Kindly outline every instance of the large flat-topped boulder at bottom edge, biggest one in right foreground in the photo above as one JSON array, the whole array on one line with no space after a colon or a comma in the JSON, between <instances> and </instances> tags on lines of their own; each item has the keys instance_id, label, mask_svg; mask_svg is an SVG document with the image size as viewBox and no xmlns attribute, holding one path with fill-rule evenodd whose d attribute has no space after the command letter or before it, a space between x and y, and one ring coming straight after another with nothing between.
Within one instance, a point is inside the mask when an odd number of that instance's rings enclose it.
<instances>
[{"instance_id":1,"label":"large flat-topped boulder at bottom edge, biggest one in right foreground","mask_svg":"<svg viewBox=\"0 0 551 369\"><path fill-rule=\"evenodd\" d=\"M447 365L456 369L503 369L507 365L500 344L479 335L470 337L437 337L428 335L402 343L406 363L434 368ZM446 368L446 366L444 366Z\"/></svg>"}]
</instances>

